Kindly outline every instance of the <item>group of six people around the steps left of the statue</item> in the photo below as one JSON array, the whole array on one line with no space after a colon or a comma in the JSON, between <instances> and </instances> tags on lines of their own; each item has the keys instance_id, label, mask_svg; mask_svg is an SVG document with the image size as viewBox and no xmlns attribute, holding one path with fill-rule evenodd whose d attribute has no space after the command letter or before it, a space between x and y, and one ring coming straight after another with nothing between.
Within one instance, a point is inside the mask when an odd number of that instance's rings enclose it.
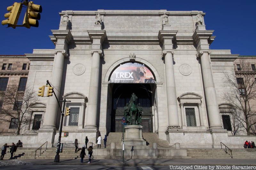
<instances>
[{"instance_id":1,"label":"group of six people around the steps left of the statue","mask_svg":"<svg viewBox=\"0 0 256 170\"><path fill-rule=\"evenodd\" d=\"M102 140L102 138L101 138L101 136L99 136L98 139L97 139L98 148L99 148L99 145L101 147L101 140ZM106 148L106 145L107 145L107 135L105 135L105 138L103 140L104 140L104 145L105 145L105 148ZM80 163L81 164L84 163L84 156L86 155L85 149L87 148L88 142L89 142L88 137L85 137L85 145L83 145L83 147L81 149L81 152L80 152L80 157L81 157ZM75 143L74 144L75 144L75 147L76 147L76 149L75 149L75 153L76 153L77 152L77 148L78 148L78 141L77 141L77 139L75 139ZM90 144L90 146L87 149L88 156L89 156L88 164L90 164L91 161L92 161L92 149L93 149L92 148L92 144Z\"/></svg>"}]
</instances>

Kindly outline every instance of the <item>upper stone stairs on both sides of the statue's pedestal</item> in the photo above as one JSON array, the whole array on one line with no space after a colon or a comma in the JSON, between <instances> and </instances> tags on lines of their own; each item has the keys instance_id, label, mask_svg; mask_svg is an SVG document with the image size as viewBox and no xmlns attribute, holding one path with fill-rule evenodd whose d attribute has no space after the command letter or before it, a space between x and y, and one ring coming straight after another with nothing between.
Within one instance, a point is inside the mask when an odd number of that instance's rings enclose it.
<instances>
[{"instance_id":1,"label":"upper stone stairs on both sides of the statue's pedestal","mask_svg":"<svg viewBox=\"0 0 256 170\"><path fill-rule=\"evenodd\" d=\"M146 144L152 147L153 143L157 143L157 148L170 148L169 143L166 140L159 139L156 133L142 133ZM124 133L125 137L125 133ZM124 138L125 139L125 138ZM108 134L107 148L110 148L111 142L115 142L116 146L121 145L123 141L122 132L110 132Z\"/></svg>"}]
</instances>

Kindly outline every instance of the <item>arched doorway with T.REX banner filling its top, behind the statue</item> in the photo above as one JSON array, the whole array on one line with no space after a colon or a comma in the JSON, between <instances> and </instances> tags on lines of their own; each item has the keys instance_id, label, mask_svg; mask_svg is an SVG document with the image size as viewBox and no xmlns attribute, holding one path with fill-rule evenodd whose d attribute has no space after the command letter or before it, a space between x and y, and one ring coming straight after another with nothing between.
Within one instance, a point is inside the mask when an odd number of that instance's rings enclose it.
<instances>
[{"instance_id":1,"label":"arched doorway with T.REX banner filling its top, behind the statue","mask_svg":"<svg viewBox=\"0 0 256 170\"><path fill-rule=\"evenodd\" d=\"M110 131L122 131L124 106L129 103L132 93L135 93L143 108L143 132L153 132L152 97L155 97L156 85L151 71L144 64L124 63L112 72L109 83L112 89Z\"/></svg>"}]
</instances>

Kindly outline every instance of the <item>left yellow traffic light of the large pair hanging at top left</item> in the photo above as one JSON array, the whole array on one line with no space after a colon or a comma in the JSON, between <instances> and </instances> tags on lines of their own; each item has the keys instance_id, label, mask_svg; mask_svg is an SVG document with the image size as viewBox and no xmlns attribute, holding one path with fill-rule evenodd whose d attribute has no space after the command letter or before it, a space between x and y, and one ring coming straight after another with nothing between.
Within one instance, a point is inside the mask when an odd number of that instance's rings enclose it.
<instances>
[{"instance_id":1,"label":"left yellow traffic light of the large pair hanging at top left","mask_svg":"<svg viewBox=\"0 0 256 170\"><path fill-rule=\"evenodd\" d=\"M15 2L12 6L7 7L9 13L4 14L4 18L8 18L2 21L2 25L8 24L8 27L11 26L15 28L20 17L20 12L22 9L22 4Z\"/></svg>"}]
</instances>

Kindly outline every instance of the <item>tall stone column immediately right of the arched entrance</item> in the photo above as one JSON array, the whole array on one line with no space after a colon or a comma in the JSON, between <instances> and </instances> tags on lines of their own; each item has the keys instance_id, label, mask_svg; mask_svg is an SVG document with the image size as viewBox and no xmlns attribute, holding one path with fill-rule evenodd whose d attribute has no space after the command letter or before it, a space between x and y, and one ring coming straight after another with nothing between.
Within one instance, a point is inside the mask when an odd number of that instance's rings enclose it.
<instances>
[{"instance_id":1,"label":"tall stone column immediately right of the arched entrance","mask_svg":"<svg viewBox=\"0 0 256 170\"><path fill-rule=\"evenodd\" d=\"M168 129L178 128L179 117L178 117L178 106L177 106L177 96L175 88L175 78L173 70L173 50L164 50L165 55L165 79L166 79L166 94L167 94L167 110L168 110Z\"/></svg>"}]
</instances>

